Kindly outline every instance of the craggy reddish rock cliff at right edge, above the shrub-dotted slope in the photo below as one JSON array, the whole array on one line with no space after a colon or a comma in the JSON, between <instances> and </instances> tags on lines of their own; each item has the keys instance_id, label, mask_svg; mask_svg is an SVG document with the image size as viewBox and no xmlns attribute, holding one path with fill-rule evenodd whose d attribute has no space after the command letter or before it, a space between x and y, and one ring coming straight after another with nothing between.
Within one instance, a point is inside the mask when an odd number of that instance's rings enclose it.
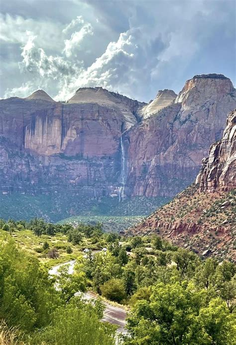
<instances>
[{"instance_id":1,"label":"craggy reddish rock cliff at right edge, above the shrub-dotted slope","mask_svg":"<svg viewBox=\"0 0 236 345\"><path fill-rule=\"evenodd\" d=\"M196 183L200 191L236 188L236 110L228 116L223 138L211 146L209 158L203 159Z\"/></svg>"}]
</instances>

